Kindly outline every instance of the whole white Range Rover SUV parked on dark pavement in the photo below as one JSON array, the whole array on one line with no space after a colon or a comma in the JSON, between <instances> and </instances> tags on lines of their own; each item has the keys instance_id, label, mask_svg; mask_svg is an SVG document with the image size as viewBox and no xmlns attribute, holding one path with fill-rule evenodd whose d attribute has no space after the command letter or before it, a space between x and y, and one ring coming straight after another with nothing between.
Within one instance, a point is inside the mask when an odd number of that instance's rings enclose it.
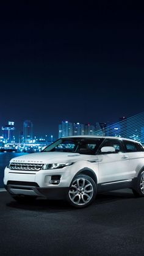
<instances>
[{"instance_id":1,"label":"whole white Range Rover SUV parked on dark pavement","mask_svg":"<svg viewBox=\"0 0 144 256\"><path fill-rule=\"evenodd\" d=\"M144 196L144 149L118 137L63 137L40 153L11 159L5 189L18 201L67 199L83 208L97 192L131 188Z\"/></svg>"}]
</instances>

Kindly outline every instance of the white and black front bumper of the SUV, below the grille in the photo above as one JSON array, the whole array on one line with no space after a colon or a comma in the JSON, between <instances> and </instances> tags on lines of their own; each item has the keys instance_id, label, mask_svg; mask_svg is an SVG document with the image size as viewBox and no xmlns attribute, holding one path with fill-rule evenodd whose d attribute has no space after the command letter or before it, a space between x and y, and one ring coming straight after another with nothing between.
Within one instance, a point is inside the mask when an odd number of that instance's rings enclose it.
<instances>
[{"instance_id":1,"label":"white and black front bumper of the SUV, below the grille","mask_svg":"<svg viewBox=\"0 0 144 256\"><path fill-rule=\"evenodd\" d=\"M53 175L60 177L59 184L52 184ZM10 194L64 199L67 196L73 173L70 166L37 172L10 170L5 167L4 186Z\"/></svg>"}]
</instances>

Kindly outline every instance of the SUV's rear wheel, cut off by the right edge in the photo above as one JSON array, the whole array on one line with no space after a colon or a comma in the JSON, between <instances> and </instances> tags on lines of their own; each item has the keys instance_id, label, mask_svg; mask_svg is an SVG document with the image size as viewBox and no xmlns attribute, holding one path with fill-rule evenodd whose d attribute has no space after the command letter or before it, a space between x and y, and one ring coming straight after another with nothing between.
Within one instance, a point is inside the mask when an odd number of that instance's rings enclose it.
<instances>
[{"instance_id":1,"label":"SUV's rear wheel, cut off by the right edge","mask_svg":"<svg viewBox=\"0 0 144 256\"><path fill-rule=\"evenodd\" d=\"M135 197L143 197L144 196L144 170L140 172L137 177L137 183L134 189L132 189Z\"/></svg>"}]
</instances>

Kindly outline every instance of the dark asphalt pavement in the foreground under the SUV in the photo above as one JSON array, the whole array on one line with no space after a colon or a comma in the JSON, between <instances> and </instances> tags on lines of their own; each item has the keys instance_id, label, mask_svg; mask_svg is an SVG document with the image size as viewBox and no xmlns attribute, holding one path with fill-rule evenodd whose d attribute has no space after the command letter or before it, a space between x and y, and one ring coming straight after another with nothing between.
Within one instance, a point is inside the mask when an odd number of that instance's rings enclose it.
<instances>
[{"instance_id":1,"label":"dark asphalt pavement in the foreground under the SUV","mask_svg":"<svg viewBox=\"0 0 144 256\"><path fill-rule=\"evenodd\" d=\"M0 192L0 255L144 255L143 206L128 189L82 210L45 199L20 204Z\"/></svg>"}]
</instances>

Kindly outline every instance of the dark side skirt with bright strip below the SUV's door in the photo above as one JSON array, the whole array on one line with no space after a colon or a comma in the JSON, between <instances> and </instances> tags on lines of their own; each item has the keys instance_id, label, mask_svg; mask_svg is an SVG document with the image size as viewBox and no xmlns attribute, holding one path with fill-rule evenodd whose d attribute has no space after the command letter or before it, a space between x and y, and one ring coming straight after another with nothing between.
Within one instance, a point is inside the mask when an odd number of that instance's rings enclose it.
<instances>
[{"instance_id":1,"label":"dark side skirt with bright strip below the SUV's door","mask_svg":"<svg viewBox=\"0 0 144 256\"><path fill-rule=\"evenodd\" d=\"M98 192L112 191L124 188L135 188L137 178L129 178L128 180L117 180L98 184Z\"/></svg>"}]
</instances>

